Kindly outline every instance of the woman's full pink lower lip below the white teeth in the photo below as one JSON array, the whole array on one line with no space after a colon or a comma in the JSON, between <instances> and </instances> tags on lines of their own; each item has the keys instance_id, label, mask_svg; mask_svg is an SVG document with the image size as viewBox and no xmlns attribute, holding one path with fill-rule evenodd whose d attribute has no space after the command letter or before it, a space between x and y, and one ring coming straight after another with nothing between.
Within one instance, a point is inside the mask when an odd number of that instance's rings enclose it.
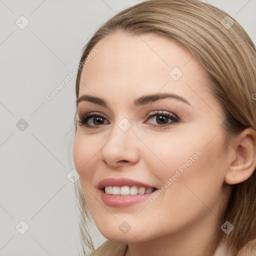
<instances>
[{"instance_id":1,"label":"woman's full pink lower lip below the white teeth","mask_svg":"<svg viewBox=\"0 0 256 256\"><path fill-rule=\"evenodd\" d=\"M100 195L102 201L111 207L126 207L147 199L152 193L147 194L127 194L127 195L119 195L119 194L106 194L102 189L100 189Z\"/></svg>"}]
</instances>

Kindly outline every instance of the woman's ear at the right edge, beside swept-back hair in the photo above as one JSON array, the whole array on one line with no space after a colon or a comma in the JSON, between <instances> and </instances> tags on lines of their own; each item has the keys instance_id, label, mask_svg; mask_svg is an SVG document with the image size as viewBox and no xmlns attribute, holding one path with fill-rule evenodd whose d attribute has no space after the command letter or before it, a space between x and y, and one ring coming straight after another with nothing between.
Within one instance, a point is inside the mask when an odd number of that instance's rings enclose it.
<instances>
[{"instance_id":1,"label":"woman's ear at the right edge, beside swept-back hair","mask_svg":"<svg viewBox=\"0 0 256 256\"><path fill-rule=\"evenodd\" d=\"M232 142L234 159L225 173L227 184L237 184L248 179L256 168L256 131L246 128Z\"/></svg>"}]
</instances>

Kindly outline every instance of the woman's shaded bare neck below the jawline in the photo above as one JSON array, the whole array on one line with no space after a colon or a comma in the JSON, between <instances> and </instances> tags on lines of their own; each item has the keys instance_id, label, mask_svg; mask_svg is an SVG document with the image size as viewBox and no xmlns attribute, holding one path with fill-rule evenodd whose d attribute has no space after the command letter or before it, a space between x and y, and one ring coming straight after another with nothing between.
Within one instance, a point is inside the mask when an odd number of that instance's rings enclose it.
<instances>
[{"instance_id":1,"label":"woman's shaded bare neck below the jawline","mask_svg":"<svg viewBox=\"0 0 256 256\"><path fill-rule=\"evenodd\" d=\"M196 224L185 226L182 231L161 236L150 241L127 244L124 256L213 256L218 241L214 240L214 231L219 227L216 216L209 212Z\"/></svg>"}]
</instances>

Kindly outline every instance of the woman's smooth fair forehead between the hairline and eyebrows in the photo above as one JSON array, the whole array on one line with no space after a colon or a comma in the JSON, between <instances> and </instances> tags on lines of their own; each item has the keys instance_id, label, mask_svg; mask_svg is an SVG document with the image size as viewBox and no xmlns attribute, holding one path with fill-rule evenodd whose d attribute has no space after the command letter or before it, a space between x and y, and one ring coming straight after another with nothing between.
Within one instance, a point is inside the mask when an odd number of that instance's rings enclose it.
<instances>
[{"instance_id":1,"label":"woman's smooth fair forehead between the hairline and eyebrows","mask_svg":"<svg viewBox=\"0 0 256 256\"><path fill-rule=\"evenodd\" d=\"M205 89L209 73L174 39L153 33L116 31L101 39L95 48L98 53L82 70L79 96L93 92L100 97L111 94L124 100L129 95L135 98L158 91L184 94L195 100L195 93L211 96Z\"/></svg>"}]
</instances>

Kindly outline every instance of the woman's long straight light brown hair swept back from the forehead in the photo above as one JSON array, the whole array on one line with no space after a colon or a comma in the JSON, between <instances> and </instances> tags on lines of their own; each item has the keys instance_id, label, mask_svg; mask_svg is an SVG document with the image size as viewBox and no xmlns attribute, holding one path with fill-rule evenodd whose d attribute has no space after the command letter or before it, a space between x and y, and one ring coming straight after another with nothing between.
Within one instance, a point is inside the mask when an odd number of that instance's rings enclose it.
<instances>
[{"instance_id":1,"label":"woman's long straight light brown hair swept back from the forehead","mask_svg":"<svg viewBox=\"0 0 256 256\"><path fill-rule=\"evenodd\" d=\"M224 18L233 21L230 27ZM256 49L249 35L239 23L224 11L199 0L145 0L128 7L101 25L82 50L80 63L97 42L121 30L132 34L154 33L175 39L201 62L210 73L208 88L223 112L222 127L226 143L246 127L256 130ZM79 94L82 68L77 72L75 93ZM77 129L77 110L74 115ZM88 209L79 182L75 193L80 208L80 234L85 246L100 255L123 255L126 244L107 240L94 248L87 230ZM256 171L245 181L232 185L228 202L218 219L212 241L223 242L236 255L249 241L256 238ZM220 226L228 220L234 231L226 235ZM119 253L119 254L118 254ZM122 254L121 254L122 253Z\"/></svg>"}]
</instances>

